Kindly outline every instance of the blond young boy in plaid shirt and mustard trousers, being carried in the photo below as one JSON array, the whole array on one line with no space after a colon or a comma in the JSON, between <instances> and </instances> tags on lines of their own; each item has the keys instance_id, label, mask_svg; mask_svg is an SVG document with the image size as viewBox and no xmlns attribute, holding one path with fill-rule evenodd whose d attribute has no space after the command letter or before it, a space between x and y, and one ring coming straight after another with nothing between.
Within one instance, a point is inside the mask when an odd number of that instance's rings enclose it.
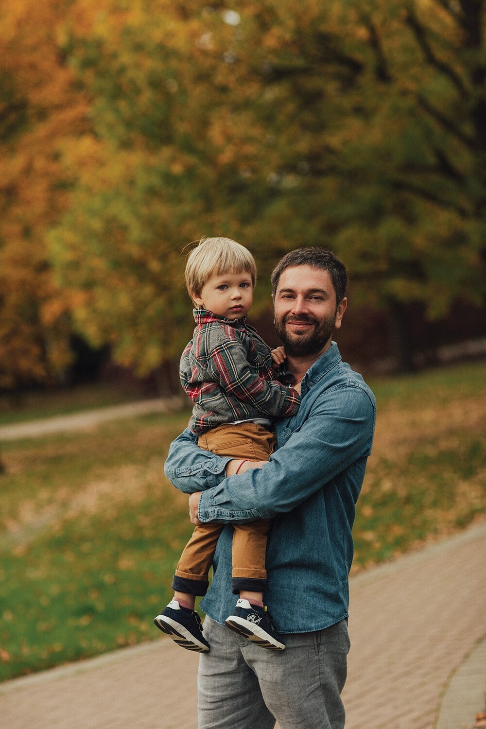
<instances>
[{"instance_id":1,"label":"blond young boy in plaid shirt and mustard trousers, being carried","mask_svg":"<svg viewBox=\"0 0 486 729\"><path fill-rule=\"evenodd\" d=\"M269 459L275 445L272 418L294 416L300 404L297 391L275 379L281 356L273 355L246 324L255 281L253 256L230 238L202 238L187 259L187 290L197 307L196 328L180 367L182 386L195 403L189 428L200 448L243 459L242 464ZM240 599L225 623L263 648L283 650L263 604L268 526L267 519L234 525L232 592ZM176 568L173 600L154 619L157 628L189 650L209 650L195 596L208 589L222 529L217 523L195 528Z\"/></svg>"}]
</instances>

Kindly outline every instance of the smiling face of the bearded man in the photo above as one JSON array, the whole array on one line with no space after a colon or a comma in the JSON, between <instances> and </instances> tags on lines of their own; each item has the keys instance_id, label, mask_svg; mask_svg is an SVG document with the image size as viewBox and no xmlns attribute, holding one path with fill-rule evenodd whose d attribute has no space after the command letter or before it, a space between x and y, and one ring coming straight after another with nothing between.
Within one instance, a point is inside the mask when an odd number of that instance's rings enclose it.
<instances>
[{"instance_id":1,"label":"smiling face of the bearded man","mask_svg":"<svg viewBox=\"0 0 486 729\"><path fill-rule=\"evenodd\" d=\"M286 268L275 292L275 330L287 354L319 354L341 326L347 300L337 305L331 276L310 266Z\"/></svg>"}]
</instances>

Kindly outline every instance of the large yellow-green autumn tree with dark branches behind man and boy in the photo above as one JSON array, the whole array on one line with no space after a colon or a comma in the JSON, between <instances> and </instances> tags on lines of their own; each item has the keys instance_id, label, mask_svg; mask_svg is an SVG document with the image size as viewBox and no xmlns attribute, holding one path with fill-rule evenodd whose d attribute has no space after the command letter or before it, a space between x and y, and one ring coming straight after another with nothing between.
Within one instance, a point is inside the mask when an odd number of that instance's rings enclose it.
<instances>
[{"instance_id":1,"label":"large yellow-green autumn tree with dark branches behind man and boy","mask_svg":"<svg viewBox=\"0 0 486 729\"><path fill-rule=\"evenodd\" d=\"M264 281L287 250L332 246L355 295L388 309L404 367L409 303L483 305L482 1L76 8L65 52L92 128L64 157L51 252L93 343L140 371L174 356L181 248L216 231Z\"/></svg>"}]
</instances>

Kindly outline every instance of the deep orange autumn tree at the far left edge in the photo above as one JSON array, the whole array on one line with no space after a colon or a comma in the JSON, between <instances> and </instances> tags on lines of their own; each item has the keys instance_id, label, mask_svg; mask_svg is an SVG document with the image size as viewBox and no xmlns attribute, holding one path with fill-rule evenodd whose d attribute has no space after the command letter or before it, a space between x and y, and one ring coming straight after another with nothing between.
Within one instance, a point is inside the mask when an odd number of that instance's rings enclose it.
<instances>
[{"instance_id":1,"label":"deep orange autumn tree at the far left edge","mask_svg":"<svg viewBox=\"0 0 486 729\"><path fill-rule=\"evenodd\" d=\"M70 3L0 7L0 387L46 381L69 361L66 303L45 233L66 209L60 157L85 105L60 52Z\"/></svg>"}]
</instances>

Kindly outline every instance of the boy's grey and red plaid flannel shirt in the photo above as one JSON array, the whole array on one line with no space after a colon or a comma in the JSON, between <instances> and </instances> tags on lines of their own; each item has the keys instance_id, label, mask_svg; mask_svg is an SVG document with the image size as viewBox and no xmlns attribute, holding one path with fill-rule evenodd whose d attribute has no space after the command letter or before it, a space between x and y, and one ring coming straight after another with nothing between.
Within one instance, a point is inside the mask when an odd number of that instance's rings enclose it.
<instances>
[{"instance_id":1,"label":"boy's grey and red plaid flannel shirt","mask_svg":"<svg viewBox=\"0 0 486 729\"><path fill-rule=\"evenodd\" d=\"M189 428L196 434L251 418L291 417L297 391L277 380L270 347L245 318L224 319L195 309L196 328L181 356L180 377L192 402Z\"/></svg>"}]
</instances>

